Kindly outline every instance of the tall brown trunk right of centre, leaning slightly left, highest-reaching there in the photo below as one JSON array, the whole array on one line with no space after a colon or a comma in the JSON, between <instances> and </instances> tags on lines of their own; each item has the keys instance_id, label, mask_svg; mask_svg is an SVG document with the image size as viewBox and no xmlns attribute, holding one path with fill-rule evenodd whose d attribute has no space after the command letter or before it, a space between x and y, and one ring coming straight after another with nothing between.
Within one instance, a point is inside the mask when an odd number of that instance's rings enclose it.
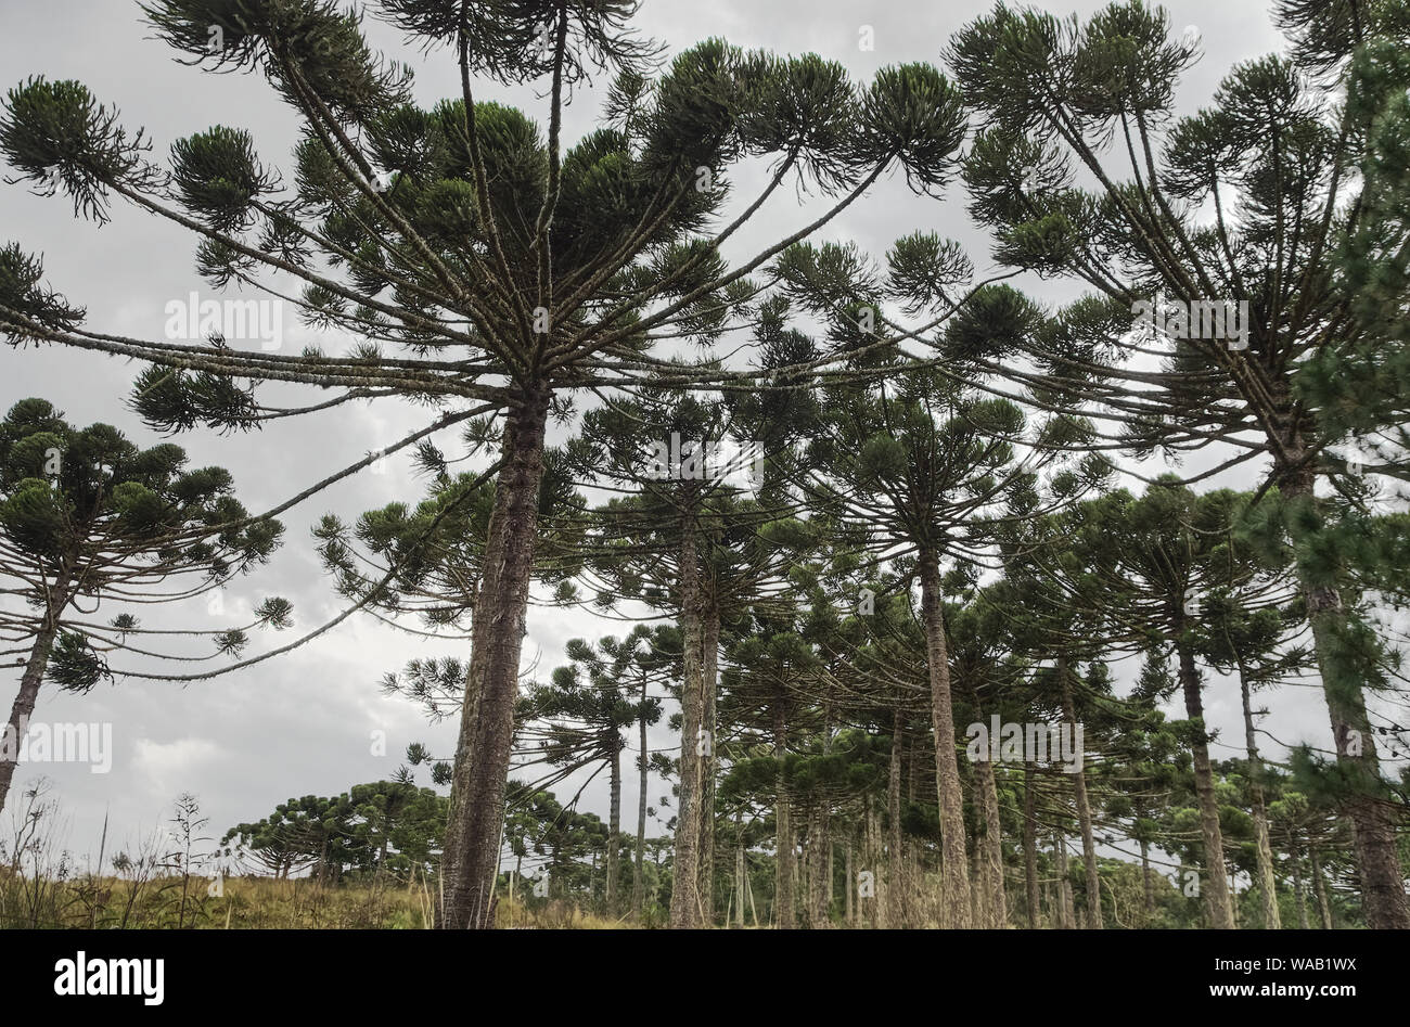
<instances>
[{"instance_id":1,"label":"tall brown trunk right of centre, leaning slightly left, highest-reaching there","mask_svg":"<svg viewBox=\"0 0 1410 1027\"><path fill-rule=\"evenodd\" d=\"M950 698L950 660L945 642L940 564L935 550L931 549L921 550L919 561L925 655L931 673L931 718L935 725L935 784L940 811L942 927L963 930L970 925L970 879L964 844L964 796L960 790L955 710Z\"/></svg>"}]
</instances>

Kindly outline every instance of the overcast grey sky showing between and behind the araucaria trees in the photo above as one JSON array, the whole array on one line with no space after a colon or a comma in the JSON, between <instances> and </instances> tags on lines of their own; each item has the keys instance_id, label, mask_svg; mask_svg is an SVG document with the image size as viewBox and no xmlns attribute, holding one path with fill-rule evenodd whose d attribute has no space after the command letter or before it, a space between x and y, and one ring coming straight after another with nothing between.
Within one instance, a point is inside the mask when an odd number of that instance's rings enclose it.
<instances>
[{"instance_id":1,"label":"overcast grey sky showing between and behind the araucaria trees","mask_svg":"<svg viewBox=\"0 0 1410 1027\"><path fill-rule=\"evenodd\" d=\"M1089 14L1097 7L1096 3L1049 4L1060 14ZM666 42L670 52L718 35L749 48L814 51L840 61L857 79L867 79L887 63L936 62L949 35L981 10L973 3L898 0L649 0L639 24L644 34ZM1203 59L1179 93L1183 109L1207 103L1232 63L1282 48L1265 3L1176 0L1167 10L1177 32L1193 25L1204 45ZM422 104L458 95L451 52L423 55L375 20L369 18L368 25L374 42L416 69ZM176 138L227 124L251 130L266 164L289 166L296 123L268 85L258 76L210 75L176 63L164 44L149 38L151 30L131 0L0 0L0 27L4 87L31 75L79 79L102 102L116 106L125 126L145 127L157 154L164 154ZM873 30L871 51L859 47L863 27ZM482 87L479 97L515 102L543 120L543 104L533 89ZM592 124L599 102L599 93L578 92L567 119L570 135ZM747 169L739 178L737 195L753 195L750 183L757 181L759 171ZM791 192L781 200L735 240L735 255L750 245L757 250L808 220ZM969 224L962 198L957 193L943 202L915 198L901 179L878 183L823 236L854 240L864 251L881 254L894 238L918 227L973 244L974 261L983 272L987 247ZM66 199L44 199L20 186L0 186L0 241L18 241L25 250L41 251L49 284L87 308L89 327L94 330L161 339L168 302L192 291L202 298L214 295L193 271L193 241L188 234L124 206L116 206L111 223L99 230L73 220ZM1031 282L1025 288L1046 300L1063 296L1053 285ZM296 353L313 340L313 333L289 317L285 351ZM319 341L330 351L338 348L337 340ZM76 423L109 422L151 444L157 439L123 402L138 371L131 363L89 353L4 348L0 401L8 408L24 396L44 396ZM307 392L300 395L302 402L309 402ZM262 399L298 402L293 394L276 389L264 392ZM247 506L266 509L309 481L396 440L419 426L422 416L395 402L350 405L275 422L250 435L221 437L195 432L178 442L195 464L228 467ZM1159 468L1144 470L1149 474ZM204 626L214 616L223 626L234 626L248 619L251 605L275 594L293 601L295 631L324 622L340 604L307 545L309 525L324 512L351 519L395 499L415 499L420 492L407 463L393 458L381 474L362 473L319 494L285 515L285 547L268 567L227 590L223 614L209 612L200 601L172 619ZM561 662L567 639L598 638L620 629L619 624L587 614L530 611L525 662L537 662L546 672ZM252 652L288 636L288 632L282 638L257 636ZM30 763L21 765L17 784L39 774L52 780L65 811L63 835L80 856L96 852L104 817L111 824L111 852L165 821L172 800L182 791L199 797L210 817L210 834L219 837L233 824L266 815L289 796L333 794L358 782L385 777L400 762L407 742L423 741L436 753L450 753L454 722L427 725L413 705L382 697L378 679L412 656L464 656L465 649L464 643L407 636L354 618L288 656L188 687L118 680L82 698L47 687L35 721L110 722L113 769L94 774L79 765ZM17 681L18 673L13 679ZM1224 731L1221 742L1237 741L1241 736L1237 690L1214 680L1207 704L1211 722ZM1272 735L1325 742L1325 711L1314 688L1286 688L1276 707L1277 712L1265 724ZM388 755L372 753L374 732L385 732ZM664 745L668 738L658 735L656 742ZM1232 750L1220 745L1215 752L1227 756ZM653 803L663 790L660 783L653 784ZM564 791L560 789L560 794ZM582 804L605 814L605 786L594 783ZM13 810L14 803L10 806ZM623 808L630 811L634 806L634 783L629 780Z\"/></svg>"}]
</instances>

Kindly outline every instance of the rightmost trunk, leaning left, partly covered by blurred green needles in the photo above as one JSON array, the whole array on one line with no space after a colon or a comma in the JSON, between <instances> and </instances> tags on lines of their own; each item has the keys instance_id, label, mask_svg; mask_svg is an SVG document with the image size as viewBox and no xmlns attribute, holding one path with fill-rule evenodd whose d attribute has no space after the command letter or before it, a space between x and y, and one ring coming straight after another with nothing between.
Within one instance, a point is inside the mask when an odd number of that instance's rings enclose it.
<instances>
[{"instance_id":1,"label":"rightmost trunk, leaning left, partly covered by blurred green needles","mask_svg":"<svg viewBox=\"0 0 1410 1027\"><path fill-rule=\"evenodd\" d=\"M1300 456L1301 446L1296 450L1294 457ZM1304 470L1285 481L1279 491L1285 499L1317 504L1314 481L1314 471L1308 463ZM1347 645L1338 638L1347 621L1341 594L1334 587L1314 583L1301 563L1297 566L1297 573L1307 604L1307 619L1313 628L1323 694L1327 697L1327 714L1337 743L1337 763L1352 782L1344 810L1351 821L1351 838L1356 851L1356 866L1361 870L1366 925L1410 930L1410 900L1406 897L1400 856L1396 852L1390 804L1380 794L1385 791L1385 780L1380 774L1380 759L1371 721L1366 717L1361 676L1354 664L1356 656L1345 655Z\"/></svg>"}]
</instances>

